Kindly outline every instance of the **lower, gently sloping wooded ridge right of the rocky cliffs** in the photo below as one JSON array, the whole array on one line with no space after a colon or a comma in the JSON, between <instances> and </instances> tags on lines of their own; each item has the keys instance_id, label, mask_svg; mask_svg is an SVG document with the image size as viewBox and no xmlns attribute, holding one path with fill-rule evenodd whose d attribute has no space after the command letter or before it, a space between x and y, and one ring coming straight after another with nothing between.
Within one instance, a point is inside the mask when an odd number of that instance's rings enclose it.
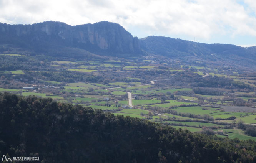
<instances>
[{"instance_id":1,"label":"lower, gently sloping wooded ridge right of the rocky cliffs","mask_svg":"<svg viewBox=\"0 0 256 163\"><path fill-rule=\"evenodd\" d=\"M256 46L244 48L231 44L206 44L170 37L148 36L140 39L140 47L146 54L168 58L184 60L190 57L256 68Z\"/></svg>"}]
</instances>

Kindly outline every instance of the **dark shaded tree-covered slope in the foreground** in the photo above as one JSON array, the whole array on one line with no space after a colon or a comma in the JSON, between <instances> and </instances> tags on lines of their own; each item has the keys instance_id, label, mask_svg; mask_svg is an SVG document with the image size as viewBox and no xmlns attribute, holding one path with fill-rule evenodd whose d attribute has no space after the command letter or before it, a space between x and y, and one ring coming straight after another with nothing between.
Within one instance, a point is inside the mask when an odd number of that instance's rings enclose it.
<instances>
[{"instance_id":1,"label":"dark shaded tree-covered slope in the foreground","mask_svg":"<svg viewBox=\"0 0 256 163\"><path fill-rule=\"evenodd\" d=\"M0 93L0 155L47 163L253 163L256 142Z\"/></svg>"}]
</instances>

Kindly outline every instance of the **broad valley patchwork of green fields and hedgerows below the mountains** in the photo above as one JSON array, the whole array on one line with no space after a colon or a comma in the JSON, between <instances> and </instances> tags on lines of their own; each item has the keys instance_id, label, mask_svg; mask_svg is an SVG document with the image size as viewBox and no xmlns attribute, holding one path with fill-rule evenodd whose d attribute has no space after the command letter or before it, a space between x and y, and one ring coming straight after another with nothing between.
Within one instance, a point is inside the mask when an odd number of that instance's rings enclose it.
<instances>
[{"instance_id":1,"label":"broad valley patchwork of green fields and hedgerows below the mountains","mask_svg":"<svg viewBox=\"0 0 256 163\"><path fill-rule=\"evenodd\" d=\"M3 57L14 58L12 56L17 55ZM32 59L28 55L15 58ZM247 73L244 70L213 67L200 61L185 64L149 58L140 61L116 58L55 60L38 61L38 65L44 66L42 69L37 66L2 69L0 91L50 97L58 102L81 104L151 122L188 125L186 128L193 132L202 130L199 125L222 130L222 125L213 123L223 122L228 122L225 123L228 128L236 129L240 119L246 124L256 124L256 77L243 75ZM210 75L202 77L207 73ZM10 78L12 81L8 81ZM213 86L208 85L211 81L214 81ZM54 89L45 85L54 85ZM24 86L34 86L35 90L22 90ZM127 92L131 92L133 109L127 109L131 108ZM236 122L225 120L232 116ZM192 122L184 122L190 120ZM213 122L204 123L204 120ZM233 132L236 137L249 138L236 132Z\"/></svg>"}]
</instances>

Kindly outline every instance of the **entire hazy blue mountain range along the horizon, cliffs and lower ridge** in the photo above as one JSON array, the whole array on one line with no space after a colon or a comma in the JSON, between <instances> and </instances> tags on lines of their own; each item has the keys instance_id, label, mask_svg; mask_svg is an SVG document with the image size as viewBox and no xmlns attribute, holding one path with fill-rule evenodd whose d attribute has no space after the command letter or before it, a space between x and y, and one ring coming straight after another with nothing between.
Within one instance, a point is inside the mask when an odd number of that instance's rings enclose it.
<instances>
[{"instance_id":1,"label":"entire hazy blue mountain range along the horizon, cliffs and lower ridge","mask_svg":"<svg viewBox=\"0 0 256 163\"><path fill-rule=\"evenodd\" d=\"M203 59L256 67L256 46L205 44L169 37L138 39L117 23L101 21L71 26L46 21L32 25L0 23L0 53L25 51L64 57L146 56Z\"/></svg>"}]
</instances>

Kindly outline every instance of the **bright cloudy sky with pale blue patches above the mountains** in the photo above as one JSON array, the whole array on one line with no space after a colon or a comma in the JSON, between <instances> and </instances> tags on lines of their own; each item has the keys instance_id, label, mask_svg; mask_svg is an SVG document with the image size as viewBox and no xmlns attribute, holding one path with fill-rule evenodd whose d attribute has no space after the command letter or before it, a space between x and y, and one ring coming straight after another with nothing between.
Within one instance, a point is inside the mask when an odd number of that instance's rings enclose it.
<instances>
[{"instance_id":1,"label":"bright cloudy sky with pale blue patches above the mountains","mask_svg":"<svg viewBox=\"0 0 256 163\"><path fill-rule=\"evenodd\" d=\"M0 22L110 21L133 36L256 46L256 0L0 0Z\"/></svg>"}]
</instances>

